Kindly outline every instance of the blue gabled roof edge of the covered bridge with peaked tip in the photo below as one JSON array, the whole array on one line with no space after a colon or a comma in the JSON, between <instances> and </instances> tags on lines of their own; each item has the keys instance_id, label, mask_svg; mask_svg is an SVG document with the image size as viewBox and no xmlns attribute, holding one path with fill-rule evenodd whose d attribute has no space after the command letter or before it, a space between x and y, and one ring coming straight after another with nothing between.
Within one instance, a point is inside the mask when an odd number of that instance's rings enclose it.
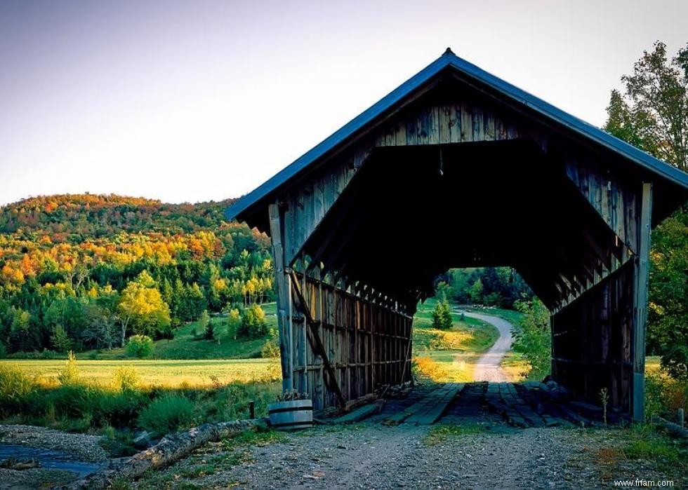
<instances>
[{"instance_id":1,"label":"blue gabled roof edge of the covered bridge with peaked tip","mask_svg":"<svg viewBox=\"0 0 688 490\"><path fill-rule=\"evenodd\" d=\"M239 198L227 209L227 219L242 219L244 212L253 207L253 205L256 205L267 196L270 196L289 179L316 163L320 158L328 154L329 151L332 151L386 111L392 109L395 104L404 100L405 97L414 93L416 89L423 86L445 69L454 69L462 76L472 79L483 86L487 86L487 88L491 88L513 102L517 102L518 104L522 104L536 111L544 118L564 125L571 130L571 132L577 133L595 144L599 144L602 147L606 147L616 152L616 154L683 189L688 189L688 174L654 158L621 139L609 135L607 132L604 132L600 128L596 128L590 123L586 123L575 116L571 116L571 114L527 93L525 90L521 90L511 83L489 74L483 69L475 66L475 64L456 56L447 48L444 54L437 58L437 60L430 63L427 67L369 107L369 109L363 111L331 136L324 139L324 141L297 158L291 165L280 170L276 175L256 189Z\"/></svg>"}]
</instances>

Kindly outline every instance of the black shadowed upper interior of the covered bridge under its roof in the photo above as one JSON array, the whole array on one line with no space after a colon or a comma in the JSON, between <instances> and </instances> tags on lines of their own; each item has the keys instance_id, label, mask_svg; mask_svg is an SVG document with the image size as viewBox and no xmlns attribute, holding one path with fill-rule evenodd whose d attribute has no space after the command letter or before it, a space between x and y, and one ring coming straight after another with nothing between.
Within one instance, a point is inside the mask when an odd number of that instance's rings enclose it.
<instances>
[{"instance_id":1,"label":"black shadowed upper interior of the covered bridge under its roof","mask_svg":"<svg viewBox=\"0 0 688 490\"><path fill-rule=\"evenodd\" d=\"M614 232L531 139L373 150L303 250L406 304L447 268L512 266L550 308ZM562 275L564 277L562 278Z\"/></svg>"}]
</instances>

